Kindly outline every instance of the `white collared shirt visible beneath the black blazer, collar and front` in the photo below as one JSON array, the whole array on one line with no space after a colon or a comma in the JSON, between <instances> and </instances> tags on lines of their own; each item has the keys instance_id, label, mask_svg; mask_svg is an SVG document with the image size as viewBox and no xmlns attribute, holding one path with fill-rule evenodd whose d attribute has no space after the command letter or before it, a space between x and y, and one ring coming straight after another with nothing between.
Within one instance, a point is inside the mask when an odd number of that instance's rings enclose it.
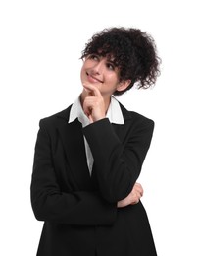
<instances>
[{"instance_id":1,"label":"white collared shirt visible beneath the black blazer, collar and front","mask_svg":"<svg viewBox=\"0 0 198 256\"><path fill-rule=\"evenodd\" d=\"M124 117L123 117L123 113L122 113L120 104L114 96L111 97L111 102L110 102L106 117L109 118L111 123L124 124ZM80 96L78 96L76 98L76 100L74 101L74 104L71 107L68 122L71 123L76 118L78 118L79 122L82 124L82 127L85 127L90 124L88 117L85 115L85 113L81 107ZM91 150L89 148L89 145L88 145L85 137L84 137L84 145L85 145L87 165L88 165L89 172L91 175L92 166L93 166L93 156L91 154Z\"/></svg>"}]
</instances>

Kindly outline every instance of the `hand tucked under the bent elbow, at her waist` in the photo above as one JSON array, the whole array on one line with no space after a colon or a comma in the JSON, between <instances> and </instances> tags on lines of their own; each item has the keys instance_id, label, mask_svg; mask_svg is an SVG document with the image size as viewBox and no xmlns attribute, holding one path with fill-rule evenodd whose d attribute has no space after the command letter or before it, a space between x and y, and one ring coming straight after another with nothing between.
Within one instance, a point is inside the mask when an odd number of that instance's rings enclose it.
<instances>
[{"instance_id":1,"label":"hand tucked under the bent elbow, at her waist","mask_svg":"<svg viewBox=\"0 0 198 256\"><path fill-rule=\"evenodd\" d=\"M135 183L132 191L129 193L127 197L117 203L117 207L125 207L128 205L135 205L139 203L140 198L143 196L143 188L141 184Z\"/></svg>"}]
</instances>

